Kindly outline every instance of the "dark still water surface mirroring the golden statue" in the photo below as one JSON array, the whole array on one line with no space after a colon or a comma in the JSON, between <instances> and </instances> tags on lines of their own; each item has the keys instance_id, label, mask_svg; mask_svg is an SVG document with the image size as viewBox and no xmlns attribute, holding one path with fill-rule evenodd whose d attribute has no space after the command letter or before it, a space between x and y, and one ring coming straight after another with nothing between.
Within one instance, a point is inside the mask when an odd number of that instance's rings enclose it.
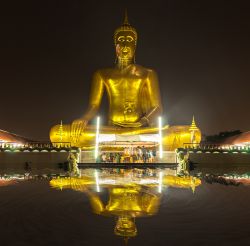
<instances>
[{"instance_id":1,"label":"dark still water surface mirroring the golden statue","mask_svg":"<svg viewBox=\"0 0 250 246\"><path fill-rule=\"evenodd\" d=\"M7 182L1 245L248 245L247 168L204 170L88 169L57 183Z\"/></svg>"}]
</instances>

